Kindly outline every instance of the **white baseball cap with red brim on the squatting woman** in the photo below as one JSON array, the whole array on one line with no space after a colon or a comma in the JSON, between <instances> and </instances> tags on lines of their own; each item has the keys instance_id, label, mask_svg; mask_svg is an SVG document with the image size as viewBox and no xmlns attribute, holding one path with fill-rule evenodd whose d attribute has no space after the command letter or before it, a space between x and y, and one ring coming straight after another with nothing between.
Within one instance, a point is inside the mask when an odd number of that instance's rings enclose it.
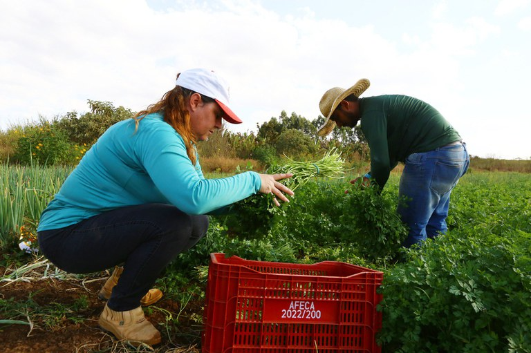
<instances>
[{"instance_id":1,"label":"white baseball cap with red brim on the squatting woman","mask_svg":"<svg viewBox=\"0 0 531 353\"><path fill-rule=\"evenodd\" d=\"M227 120L227 122L232 124L240 124L242 122L228 106L229 86L227 82L216 75L214 71L205 68L185 70L178 75L176 86L188 88L214 99L225 113L223 119Z\"/></svg>"}]
</instances>

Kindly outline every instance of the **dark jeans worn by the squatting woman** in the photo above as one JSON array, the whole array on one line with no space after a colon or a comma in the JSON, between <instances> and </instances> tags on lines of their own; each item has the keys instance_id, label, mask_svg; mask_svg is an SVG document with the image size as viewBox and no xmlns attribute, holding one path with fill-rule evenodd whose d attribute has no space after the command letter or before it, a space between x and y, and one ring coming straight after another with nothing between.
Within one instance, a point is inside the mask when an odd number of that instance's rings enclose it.
<instances>
[{"instance_id":1,"label":"dark jeans worn by the squatting woman","mask_svg":"<svg viewBox=\"0 0 531 353\"><path fill-rule=\"evenodd\" d=\"M139 204L37 236L42 254L64 271L86 274L124 263L107 305L127 311L140 305L162 269L207 229L207 216L191 216L169 204Z\"/></svg>"}]
</instances>

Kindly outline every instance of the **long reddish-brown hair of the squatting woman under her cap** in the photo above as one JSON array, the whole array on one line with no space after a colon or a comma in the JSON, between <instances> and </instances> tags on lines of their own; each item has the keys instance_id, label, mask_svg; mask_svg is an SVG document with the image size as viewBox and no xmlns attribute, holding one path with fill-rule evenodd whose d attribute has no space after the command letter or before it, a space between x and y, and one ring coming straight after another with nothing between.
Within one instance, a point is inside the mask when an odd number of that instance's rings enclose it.
<instances>
[{"instance_id":1,"label":"long reddish-brown hair of the squatting woman under her cap","mask_svg":"<svg viewBox=\"0 0 531 353\"><path fill-rule=\"evenodd\" d=\"M190 96L194 93L192 90L175 86L174 89L169 90L162 96L160 101L151 104L143 111L139 111L133 117L135 120L135 132L138 130L140 120L151 113L160 113L164 117L164 121L171 125L177 133L183 137L185 141L186 153L192 164L196 164L196 139L192 133L190 126L190 114L186 108L186 104Z\"/></svg>"}]
</instances>

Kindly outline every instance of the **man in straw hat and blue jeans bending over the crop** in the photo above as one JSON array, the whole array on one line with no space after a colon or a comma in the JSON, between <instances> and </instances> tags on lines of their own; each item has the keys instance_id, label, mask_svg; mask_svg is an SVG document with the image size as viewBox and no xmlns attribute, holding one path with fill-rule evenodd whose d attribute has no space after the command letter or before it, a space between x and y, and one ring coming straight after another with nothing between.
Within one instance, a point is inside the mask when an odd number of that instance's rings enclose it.
<instances>
[{"instance_id":1,"label":"man in straw hat and blue jeans bending over the crop","mask_svg":"<svg viewBox=\"0 0 531 353\"><path fill-rule=\"evenodd\" d=\"M364 181L371 178L380 190L398 162L404 163L399 196L406 202L400 202L398 213L409 227L403 245L411 247L447 232L450 193L467 171L469 155L434 107L406 95L359 98L369 84L360 79L346 90L327 90L319 102L326 123L318 133L326 136L336 125L353 128L361 121L371 150L371 172Z\"/></svg>"}]
</instances>

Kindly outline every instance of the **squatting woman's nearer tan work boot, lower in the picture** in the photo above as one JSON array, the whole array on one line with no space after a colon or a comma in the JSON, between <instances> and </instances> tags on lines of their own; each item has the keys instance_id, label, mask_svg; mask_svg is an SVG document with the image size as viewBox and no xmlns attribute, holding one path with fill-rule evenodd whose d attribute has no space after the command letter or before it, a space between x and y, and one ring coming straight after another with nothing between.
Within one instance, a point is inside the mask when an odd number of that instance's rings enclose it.
<instances>
[{"instance_id":1,"label":"squatting woman's nearer tan work boot, lower in the picture","mask_svg":"<svg viewBox=\"0 0 531 353\"><path fill-rule=\"evenodd\" d=\"M141 343L147 345L160 343L160 332L146 320L142 307L128 312L115 312L105 304L100 315L100 327L111 332L120 341L129 341L136 347Z\"/></svg>"}]
</instances>

